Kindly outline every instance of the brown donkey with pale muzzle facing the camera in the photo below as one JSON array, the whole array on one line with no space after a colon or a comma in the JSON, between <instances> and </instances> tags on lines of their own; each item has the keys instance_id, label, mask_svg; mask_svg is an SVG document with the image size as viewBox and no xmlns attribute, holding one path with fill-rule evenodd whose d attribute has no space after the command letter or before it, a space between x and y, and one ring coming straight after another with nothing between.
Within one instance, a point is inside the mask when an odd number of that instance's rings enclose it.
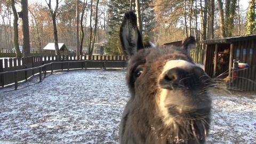
<instances>
[{"instance_id":1,"label":"brown donkey with pale muzzle facing the camera","mask_svg":"<svg viewBox=\"0 0 256 144\"><path fill-rule=\"evenodd\" d=\"M211 79L181 47L144 47L133 12L120 29L131 98L124 109L121 143L204 143L209 131Z\"/></svg>"}]
</instances>

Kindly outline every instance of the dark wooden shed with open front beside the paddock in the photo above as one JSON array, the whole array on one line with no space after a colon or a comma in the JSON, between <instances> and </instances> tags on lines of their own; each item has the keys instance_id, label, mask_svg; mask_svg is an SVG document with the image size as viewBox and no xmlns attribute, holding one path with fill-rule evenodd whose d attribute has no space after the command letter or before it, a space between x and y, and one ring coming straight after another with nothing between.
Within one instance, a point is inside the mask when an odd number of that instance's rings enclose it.
<instances>
[{"instance_id":1,"label":"dark wooden shed with open front beside the paddock","mask_svg":"<svg viewBox=\"0 0 256 144\"><path fill-rule=\"evenodd\" d=\"M209 76L228 77L229 89L256 91L256 35L209 39L202 43L206 44L204 69ZM235 66L238 60L239 66Z\"/></svg>"}]
</instances>

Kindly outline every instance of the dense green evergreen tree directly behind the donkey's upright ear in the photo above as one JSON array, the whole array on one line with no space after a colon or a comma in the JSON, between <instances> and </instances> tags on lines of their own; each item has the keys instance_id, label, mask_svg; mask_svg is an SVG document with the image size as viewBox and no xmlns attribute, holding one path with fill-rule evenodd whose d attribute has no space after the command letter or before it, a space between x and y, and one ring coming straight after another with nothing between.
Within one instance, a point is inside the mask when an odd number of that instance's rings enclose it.
<instances>
[{"instance_id":1,"label":"dense green evergreen tree directly behind the donkey's upright ear","mask_svg":"<svg viewBox=\"0 0 256 144\"><path fill-rule=\"evenodd\" d=\"M154 41L153 29L155 26L153 1L140 1L140 12L142 19L142 35L143 39ZM114 0L108 4L109 15L109 39L106 45L106 52L110 55L122 54L119 42L119 27L123 20L124 13L130 10L130 1ZM134 7L133 7L134 8ZM146 42L146 43L147 43Z\"/></svg>"}]
</instances>

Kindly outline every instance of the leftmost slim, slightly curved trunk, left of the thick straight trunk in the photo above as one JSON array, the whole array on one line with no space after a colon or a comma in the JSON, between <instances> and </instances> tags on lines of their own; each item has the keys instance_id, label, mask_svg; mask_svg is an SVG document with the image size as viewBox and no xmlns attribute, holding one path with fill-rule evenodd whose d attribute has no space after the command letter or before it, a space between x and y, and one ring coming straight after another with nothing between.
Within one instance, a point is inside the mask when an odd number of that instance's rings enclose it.
<instances>
[{"instance_id":1,"label":"leftmost slim, slightly curved trunk, left of the thick straight trunk","mask_svg":"<svg viewBox=\"0 0 256 144\"><path fill-rule=\"evenodd\" d=\"M14 46L15 46L15 52L16 52L16 58L21 58L21 52L19 49L19 32L18 32L18 14L15 9L15 3L14 0L12 2L12 11L13 11L13 28L14 28L14 36L13 36L13 41L14 41Z\"/></svg>"}]
</instances>

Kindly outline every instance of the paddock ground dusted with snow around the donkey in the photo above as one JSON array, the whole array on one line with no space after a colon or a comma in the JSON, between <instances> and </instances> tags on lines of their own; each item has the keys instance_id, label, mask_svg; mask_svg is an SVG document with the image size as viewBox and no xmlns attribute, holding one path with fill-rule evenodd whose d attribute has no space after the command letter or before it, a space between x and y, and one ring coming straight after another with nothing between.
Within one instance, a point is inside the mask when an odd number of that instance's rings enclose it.
<instances>
[{"instance_id":1,"label":"paddock ground dusted with snow around the donkey","mask_svg":"<svg viewBox=\"0 0 256 144\"><path fill-rule=\"evenodd\" d=\"M118 143L126 69L59 71L0 89L0 143ZM256 143L256 93L212 90L206 143Z\"/></svg>"}]
</instances>

